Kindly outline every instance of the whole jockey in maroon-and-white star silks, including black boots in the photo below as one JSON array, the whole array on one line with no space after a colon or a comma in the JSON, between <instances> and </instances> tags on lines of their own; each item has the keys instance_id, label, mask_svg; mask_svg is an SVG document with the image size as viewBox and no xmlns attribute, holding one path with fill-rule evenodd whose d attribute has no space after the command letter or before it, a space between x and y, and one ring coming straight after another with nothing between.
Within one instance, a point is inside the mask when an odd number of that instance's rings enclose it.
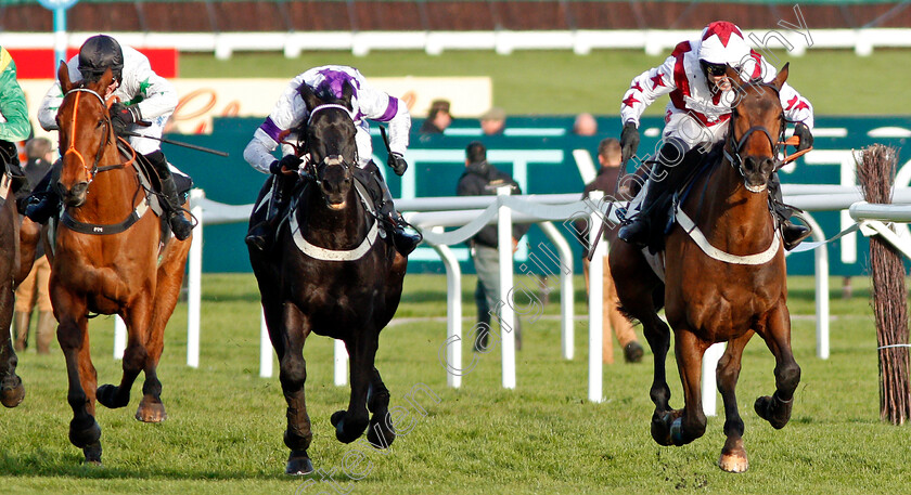
<instances>
[{"instance_id":1,"label":"whole jockey in maroon-and-white star silks, including black boots","mask_svg":"<svg viewBox=\"0 0 911 495\"><path fill-rule=\"evenodd\" d=\"M732 23L716 21L703 29L696 39L679 43L664 64L632 79L620 104L624 130L620 136L623 160L626 162L639 146L639 119L645 108L659 96L670 101L665 114L662 146L640 213L620 229L619 237L628 243L644 245L650 231L650 213L656 200L672 193L685 178L685 167L679 165L687 152L696 147L708 151L724 139L731 118L731 104L736 102L727 79L728 67L740 71L743 80L771 81L778 71L761 54L752 50L741 29ZM800 138L798 151L812 145L813 107L786 82L780 92L781 105L787 121L795 122L794 134ZM655 180L655 178L663 178ZM782 224L785 246L792 249L810 234L810 230L791 223L792 211L781 203L778 174L769 184L775 212Z\"/></svg>"}]
</instances>

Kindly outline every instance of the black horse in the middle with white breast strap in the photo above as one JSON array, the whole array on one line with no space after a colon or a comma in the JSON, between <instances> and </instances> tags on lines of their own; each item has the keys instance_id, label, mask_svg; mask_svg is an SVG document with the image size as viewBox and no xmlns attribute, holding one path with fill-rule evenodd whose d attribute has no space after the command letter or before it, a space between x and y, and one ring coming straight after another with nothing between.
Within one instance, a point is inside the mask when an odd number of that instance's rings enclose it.
<instances>
[{"instance_id":1,"label":"black horse in the middle with white breast strap","mask_svg":"<svg viewBox=\"0 0 911 495\"><path fill-rule=\"evenodd\" d=\"M312 432L304 400L303 354L310 333L343 340L350 356L348 408L331 417L336 439L354 442L368 426L368 441L376 447L387 447L395 439L389 392L374 356L380 331L401 299L408 264L390 242L377 238L377 220L364 207L365 196L356 191L360 184L355 174L367 172L357 170L354 89L345 82L337 100L317 96L306 82L298 91L310 116L298 135L305 136L315 178L303 181L292 195L288 221L281 224L273 248L249 249L287 402L287 474L313 470L307 455ZM257 205L275 179L266 182Z\"/></svg>"}]
</instances>

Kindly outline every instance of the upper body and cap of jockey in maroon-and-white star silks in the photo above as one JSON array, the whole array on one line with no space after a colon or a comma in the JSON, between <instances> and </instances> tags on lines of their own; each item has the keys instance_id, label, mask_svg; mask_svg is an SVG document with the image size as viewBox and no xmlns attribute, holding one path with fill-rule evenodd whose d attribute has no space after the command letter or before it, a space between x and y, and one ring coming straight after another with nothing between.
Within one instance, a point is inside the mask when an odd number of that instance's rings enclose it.
<instances>
[{"instance_id":1,"label":"upper body and cap of jockey in maroon-and-white star silks","mask_svg":"<svg viewBox=\"0 0 911 495\"><path fill-rule=\"evenodd\" d=\"M747 45L740 28L728 22L715 22L703 29L698 38L679 43L664 64L632 79L620 105L624 123L633 122L638 127L645 108L659 96L669 94L665 138L679 138L690 148L720 141L731 118L735 94L730 88L721 91L710 84L710 76L703 70L700 61L727 64L739 69L744 80L761 78L768 82L778 74L774 66ZM812 130L810 102L786 82L780 94L785 118L803 122Z\"/></svg>"}]
</instances>

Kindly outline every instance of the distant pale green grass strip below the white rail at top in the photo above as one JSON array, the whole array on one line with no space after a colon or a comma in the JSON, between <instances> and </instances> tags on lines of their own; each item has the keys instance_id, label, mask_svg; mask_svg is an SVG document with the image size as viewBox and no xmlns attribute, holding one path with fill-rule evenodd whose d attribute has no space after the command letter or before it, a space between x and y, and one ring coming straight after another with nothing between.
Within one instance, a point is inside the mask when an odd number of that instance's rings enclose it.
<instances>
[{"instance_id":1,"label":"distant pale green grass strip below the white rail at top","mask_svg":"<svg viewBox=\"0 0 911 495\"><path fill-rule=\"evenodd\" d=\"M911 99L904 94L911 78L908 50L877 50L859 57L848 50L810 50L794 57L778 53L781 64L791 62L791 82L813 104L819 115L908 115ZM493 104L511 114L566 115L590 112L619 114L623 93L630 80L657 66L664 56L642 51L593 51L576 55L564 51L450 51L427 55L420 51L374 51L368 56L350 52L307 52L297 58L278 53L235 53L229 61L211 54L181 54L181 77L279 77L288 78L324 64L358 67L368 78L392 76L489 76ZM774 62L774 61L772 61ZM662 115L666 99L646 115ZM457 116L458 117L458 116Z\"/></svg>"}]
</instances>

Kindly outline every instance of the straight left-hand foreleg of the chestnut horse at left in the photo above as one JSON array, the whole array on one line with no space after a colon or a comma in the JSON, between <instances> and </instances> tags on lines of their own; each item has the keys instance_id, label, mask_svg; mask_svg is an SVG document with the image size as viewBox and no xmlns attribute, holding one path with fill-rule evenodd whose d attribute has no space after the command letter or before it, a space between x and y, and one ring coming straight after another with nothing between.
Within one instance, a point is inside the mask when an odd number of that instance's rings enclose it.
<instances>
[{"instance_id":1,"label":"straight left-hand foreleg of the chestnut horse at left","mask_svg":"<svg viewBox=\"0 0 911 495\"><path fill-rule=\"evenodd\" d=\"M62 295L60 289L52 290L54 313L60 321L57 341L66 360L69 383L66 400L73 408L69 441L82 450L86 463L101 464L101 427L94 418L98 375L89 354L86 305L73 301L68 295Z\"/></svg>"}]
</instances>

